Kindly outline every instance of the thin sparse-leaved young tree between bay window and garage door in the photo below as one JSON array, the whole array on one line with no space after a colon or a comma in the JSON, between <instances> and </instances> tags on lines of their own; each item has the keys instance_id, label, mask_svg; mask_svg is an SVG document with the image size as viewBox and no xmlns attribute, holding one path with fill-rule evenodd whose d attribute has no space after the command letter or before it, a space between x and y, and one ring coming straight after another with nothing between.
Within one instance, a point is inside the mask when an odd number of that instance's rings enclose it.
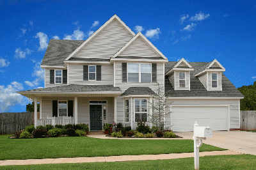
<instances>
[{"instance_id":1,"label":"thin sparse-leaved young tree between bay window and garage door","mask_svg":"<svg viewBox=\"0 0 256 170\"><path fill-rule=\"evenodd\" d=\"M164 118L171 113L166 112L166 110L170 108L172 102L166 102L166 100L164 100L164 88L161 88L158 82L156 86L156 95L151 95L154 102L148 102L150 104L150 109L152 109L152 115L149 115L149 117L150 123L161 130L161 127L164 125Z\"/></svg>"}]
</instances>

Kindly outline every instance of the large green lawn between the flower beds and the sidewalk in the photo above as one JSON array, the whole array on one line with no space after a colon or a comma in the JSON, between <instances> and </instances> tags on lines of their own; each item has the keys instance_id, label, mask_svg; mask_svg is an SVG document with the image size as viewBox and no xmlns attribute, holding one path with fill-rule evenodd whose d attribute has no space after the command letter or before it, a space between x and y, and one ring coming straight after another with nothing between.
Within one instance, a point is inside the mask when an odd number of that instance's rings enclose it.
<instances>
[{"instance_id":1,"label":"large green lawn between the flower beds and the sidewalk","mask_svg":"<svg viewBox=\"0 0 256 170\"><path fill-rule=\"evenodd\" d=\"M0 135L0 160L35 158L108 157L193 152L193 140L96 139L91 137L51 137L8 139ZM225 150L202 144L200 151Z\"/></svg>"}]
</instances>

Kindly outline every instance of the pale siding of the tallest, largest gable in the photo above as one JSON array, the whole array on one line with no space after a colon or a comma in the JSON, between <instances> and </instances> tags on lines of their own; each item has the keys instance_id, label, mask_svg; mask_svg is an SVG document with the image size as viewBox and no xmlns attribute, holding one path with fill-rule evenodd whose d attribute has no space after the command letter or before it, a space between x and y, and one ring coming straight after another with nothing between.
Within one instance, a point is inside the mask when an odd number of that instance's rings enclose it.
<instances>
[{"instance_id":1,"label":"pale siding of the tallest, largest gable","mask_svg":"<svg viewBox=\"0 0 256 170\"><path fill-rule=\"evenodd\" d=\"M133 36L115 19L93 37L75 58L111 58Z\"/></svg>"}]
</instances>

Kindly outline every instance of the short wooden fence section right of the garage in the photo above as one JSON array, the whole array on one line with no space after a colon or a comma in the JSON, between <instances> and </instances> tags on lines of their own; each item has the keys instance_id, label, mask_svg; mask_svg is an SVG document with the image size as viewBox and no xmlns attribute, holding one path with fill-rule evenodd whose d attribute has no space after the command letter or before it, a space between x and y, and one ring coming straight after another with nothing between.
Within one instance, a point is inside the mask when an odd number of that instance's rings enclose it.
<instances>
[{"instance_id":1,"label":"short wooden fence section right of the garage","mask_svg":"<svg viewBox=\"0 0 256 170\"><path fill-rule=\"evenodd\" d=\"M256 111L240 111L240 128L256 130Z\"/></svg>"}]
</instances>

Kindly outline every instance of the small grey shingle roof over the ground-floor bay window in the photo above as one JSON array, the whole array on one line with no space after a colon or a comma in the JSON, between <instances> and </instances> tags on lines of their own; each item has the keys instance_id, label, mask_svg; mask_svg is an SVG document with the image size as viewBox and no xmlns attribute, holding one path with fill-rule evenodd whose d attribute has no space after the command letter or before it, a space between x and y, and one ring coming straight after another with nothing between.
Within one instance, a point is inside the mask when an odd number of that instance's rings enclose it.
<instances>
[{"instance_id":1,"label":"small grey shingle roof over the ground-floor bay window","mask_svg":"<svg viewBox=\"0 0 256 170\"><path fill-rule=\"evenodd\" d=\"M148 87L130 87L121 96L125 95L156 95L156 93Z\"/></svg>"}]
</instances>

